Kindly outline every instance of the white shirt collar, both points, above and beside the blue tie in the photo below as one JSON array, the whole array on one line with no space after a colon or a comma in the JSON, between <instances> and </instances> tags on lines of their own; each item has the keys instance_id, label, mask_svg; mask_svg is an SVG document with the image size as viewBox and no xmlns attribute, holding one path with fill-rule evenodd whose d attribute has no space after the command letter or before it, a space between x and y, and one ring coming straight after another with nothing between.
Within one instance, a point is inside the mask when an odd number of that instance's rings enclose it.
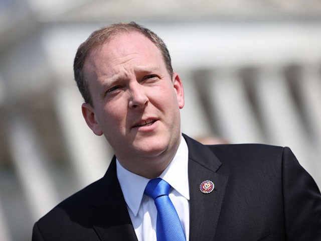
<instances>
[{"instance_id":1,"label":"white shirt collar, both points, above and beside the blue tie","mask_svg":"<svg viewBox=\"0 0 321 241\"><path fill-rule=\"evenodd\" d=\"M127 206L136 216L145 187L150 179L128 171L121 166L118 159L116 159L116 171ZM159 177L167 181L186 199L190 199L188 179L188 147L183 137L175 157Z\"/></svg>"}]
</instances>

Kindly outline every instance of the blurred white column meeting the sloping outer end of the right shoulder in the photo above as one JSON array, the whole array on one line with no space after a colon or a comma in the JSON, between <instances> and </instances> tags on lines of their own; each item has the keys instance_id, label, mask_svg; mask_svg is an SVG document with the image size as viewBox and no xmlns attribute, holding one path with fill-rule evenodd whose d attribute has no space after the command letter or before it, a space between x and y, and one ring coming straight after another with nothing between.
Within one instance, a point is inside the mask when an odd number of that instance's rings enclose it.
<instances>
[{"instance_id":1,"label":"blurred white column meeting the sloping outer end of the right shoulder","mask_svg":"<svg viewBox=\"0 0 321 241\"><path fill-rule=\"evenodd\" d=\"M308 139L281 69L261 69L254 84L269 144L290 147L301 165L310 170Z\"/></svg>"}]
</instances>

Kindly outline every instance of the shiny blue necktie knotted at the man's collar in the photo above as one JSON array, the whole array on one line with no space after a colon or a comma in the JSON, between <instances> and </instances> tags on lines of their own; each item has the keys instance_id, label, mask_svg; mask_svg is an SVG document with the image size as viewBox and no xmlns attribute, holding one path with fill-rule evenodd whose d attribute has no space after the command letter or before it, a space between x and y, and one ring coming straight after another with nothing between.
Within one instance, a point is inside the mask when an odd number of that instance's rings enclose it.
<instances>
[{"instance_id":1,"label":"shiny blue necktie knotted at the man's collar","mask_svg":"<svg viewBox=\"0 0 321 241\"><path fill-rule=\"evenodd\" d=\"M151 179L145 194L154 199L157 209L157 241L186 241L179 215L169 197L171 185L161 178Z\"/></svg>"}]
</instances>

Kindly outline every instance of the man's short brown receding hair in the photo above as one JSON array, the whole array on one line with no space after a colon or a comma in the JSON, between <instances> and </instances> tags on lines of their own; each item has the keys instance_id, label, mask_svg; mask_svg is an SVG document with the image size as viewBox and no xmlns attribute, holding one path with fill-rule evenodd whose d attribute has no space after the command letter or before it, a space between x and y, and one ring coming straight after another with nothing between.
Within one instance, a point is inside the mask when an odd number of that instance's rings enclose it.
<instances>
[{"instance_id":1,"label":"man's short brown receding hair","mask_svg":"<svg viewBox=\"0 0 321 241\"><path fill-rule=\"evenodd\" d=\"M147 28L144 28L141 25L136 24L135 22L111 24L109 26L102 27L101 29L94 31L88 37L88 39L79 46L74 59L75 80L78 89L86 103L93 105L88 89L88 84L86 83L86 79L84 78L83 73L83 67L85 61L87 60L87 57L94 49L110 41L110 39L113 36L116 36L121 32L129 33L134 31L144 35L159 49L159 51L161 51L166 68L169 74L171 76L173 75L173 67L169 50L167 49L164 41L161 38L159 38L155 33L153 33L151 30Z\"/></svg>"}]
</instances>

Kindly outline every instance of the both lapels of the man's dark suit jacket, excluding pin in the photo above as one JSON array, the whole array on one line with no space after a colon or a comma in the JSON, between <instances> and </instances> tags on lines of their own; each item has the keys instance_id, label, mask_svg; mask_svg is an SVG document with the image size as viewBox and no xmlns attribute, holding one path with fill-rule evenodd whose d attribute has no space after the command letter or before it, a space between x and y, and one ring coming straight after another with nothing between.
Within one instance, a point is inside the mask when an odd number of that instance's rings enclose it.
<instances>
[{"instance_id":1,"label":"both lapels of the man's dark suit jacket, excluding pin","mask_svg":"<svg viewBox=\"0 0 321 241\"><path fill-rule=\"evenodd\" d=\"M189 147L190 241L214 238L224 198L227 176L217 173L221 162L206 146L184 135ZM200 184L210 180L213 192L204 194ZM115 157L97 187L92 225L102 241L137 241L116 174Z\"/></svg>"}]
</instances>

